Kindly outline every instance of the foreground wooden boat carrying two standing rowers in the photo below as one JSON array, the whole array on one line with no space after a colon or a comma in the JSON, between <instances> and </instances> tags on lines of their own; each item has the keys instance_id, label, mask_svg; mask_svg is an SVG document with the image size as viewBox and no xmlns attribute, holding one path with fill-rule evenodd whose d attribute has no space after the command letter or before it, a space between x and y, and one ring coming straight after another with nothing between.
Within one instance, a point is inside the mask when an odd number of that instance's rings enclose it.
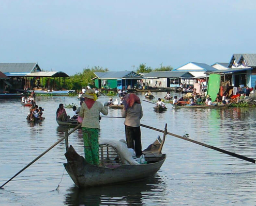
<instances>
[{"instance_id":1,"label":"foreground wooden boat carrying two standing rowers","mask_svg":"<svg viewBox=\"0 0 256 206\"><path fill-rule=\"evenodd\" d=\"M165 131L167 129L165 127ZM166 133L165 133L166 134ZM143 151L146 164L124 164L117 149L111 145L104 144L99 147L100 166L88 164L84 157L78 155L76 150L68 145L66 133L67 163L64 167L69 176L78 187L102 186L108 184L120 184L142 180L157 173L162 166L166 155L161 153L165 140L158 136L157 140ZM114 161L111 161L114 156ZM109 161L108 161L109 160Z\"/></svg>"}]
</instances>

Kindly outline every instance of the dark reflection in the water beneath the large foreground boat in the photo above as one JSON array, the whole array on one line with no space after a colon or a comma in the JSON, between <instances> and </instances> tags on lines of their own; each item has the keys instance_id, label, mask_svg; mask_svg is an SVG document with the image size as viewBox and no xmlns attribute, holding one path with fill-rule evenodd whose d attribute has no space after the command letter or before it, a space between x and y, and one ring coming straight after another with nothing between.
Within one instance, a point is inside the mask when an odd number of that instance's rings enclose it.
<instances>
[{"instance_id":1,"label":"dark reflection in the water beneath the large foreground boat","mask_svg":"<svg viewBox=\"0 0 256 206\"><path fill-rule=\"evenodd\" d=\"M166 183L159 175L139 182L80 189L71 187L65 196L67 205L156 205L162 199ZM166 202L165 202L166 203ZM165 205L164 200L158 205Z\"/></svg>"}]
</instances>

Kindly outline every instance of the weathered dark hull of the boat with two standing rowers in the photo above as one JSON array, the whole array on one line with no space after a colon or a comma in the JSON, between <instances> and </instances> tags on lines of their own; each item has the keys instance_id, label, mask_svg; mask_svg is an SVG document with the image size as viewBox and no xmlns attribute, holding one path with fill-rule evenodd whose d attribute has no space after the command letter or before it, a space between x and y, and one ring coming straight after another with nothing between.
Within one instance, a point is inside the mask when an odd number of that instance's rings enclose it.
<instances>
[{"instance_id":1,"label":"weathered dark hull of the boat with two standing rowers","mask_svg":"<svg viewBox=\"0 0 256 206\"><path fill-rule=\"evenodd\" d=\"M65 156L68 163L65 163L64 167L78 187L120 184L142 180L155 175L166 159L166 155L163 154L159 161L154 163L107 168L88 164L72 146L69 147Z\"/></svg>"}]
</instances>

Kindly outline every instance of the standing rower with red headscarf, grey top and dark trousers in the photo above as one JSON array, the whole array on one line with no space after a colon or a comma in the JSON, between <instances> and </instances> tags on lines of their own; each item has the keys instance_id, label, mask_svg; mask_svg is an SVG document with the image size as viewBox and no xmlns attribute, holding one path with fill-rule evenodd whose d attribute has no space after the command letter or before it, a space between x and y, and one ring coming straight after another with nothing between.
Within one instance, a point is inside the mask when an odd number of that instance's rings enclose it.
<instances>
[{"instance_id":1,"label":"standing rower with red headscarf, grey top and dark trousers","mask_svg":"<svg viewBox=\"0 0 256 206\"><path fill-rule=\"evenodd\" d=\"M122 117L125 117L127 147L135 151L136 157L140 157L142 155L140 119L143 116L141 100L131 93L124 96L123 104Z\"/></svg>"}]
</instances>

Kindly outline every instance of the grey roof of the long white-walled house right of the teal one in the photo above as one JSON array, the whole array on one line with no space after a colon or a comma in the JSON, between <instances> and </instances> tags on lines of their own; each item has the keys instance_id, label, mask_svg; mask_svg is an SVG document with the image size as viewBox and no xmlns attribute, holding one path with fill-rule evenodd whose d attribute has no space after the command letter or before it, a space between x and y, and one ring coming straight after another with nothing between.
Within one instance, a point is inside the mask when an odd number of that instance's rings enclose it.
<instances>
[{"instance_id":1,"label":"grey roof of the long white-walled house right of the teal one","mask_svg":"<svg viewBox=\"0 0 256 206\"><path fill-rule=\"evenodd\" d=\"M194 77L189 72L175 72L175 71L169 71L169 72L150 72L144 76L145 78L192 78Z\"/></svg>"}]
</instances>

